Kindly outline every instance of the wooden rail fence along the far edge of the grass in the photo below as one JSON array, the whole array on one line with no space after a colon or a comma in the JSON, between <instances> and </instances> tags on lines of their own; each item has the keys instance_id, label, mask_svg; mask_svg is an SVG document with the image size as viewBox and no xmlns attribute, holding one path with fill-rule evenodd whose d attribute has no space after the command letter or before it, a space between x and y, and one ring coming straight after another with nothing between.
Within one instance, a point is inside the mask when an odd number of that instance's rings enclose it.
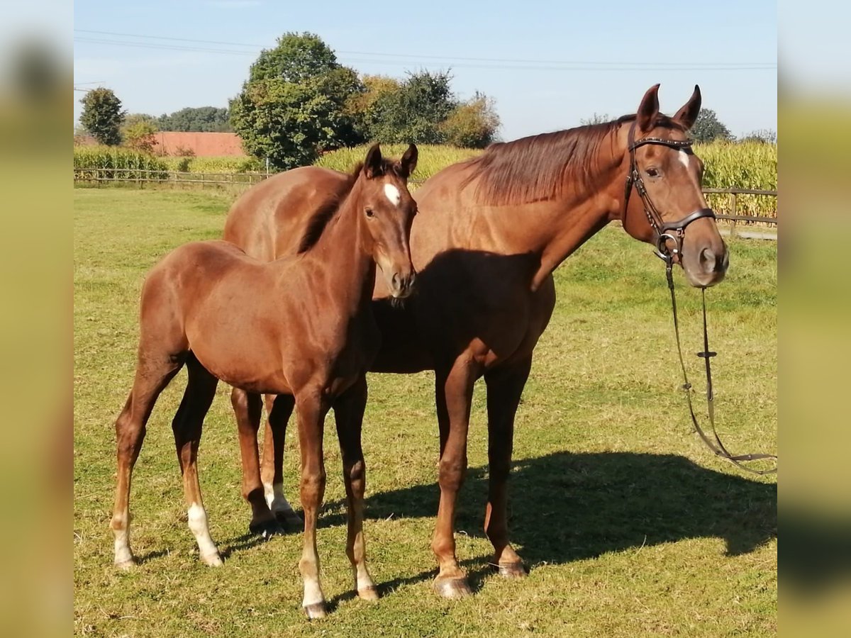
<instances>
[{"instance_id":1,"label":"wooden rail fence along the far edge of the grass","mask_svg":"<svg viewBox=\"0 0 851 638\"><path fill-rule=\"evenodd\" d=\"M111 184L127 183L144 187L146 184L200 184L205 185L253 185L269 177L266 173L185 173L181 171L156 170L150 168L74 168L75 184ZM422 184L420 179L412 179L412 184ZM774 217L768 215L740 215L740 195L777 197L777 191L761 191L751 188L705 188L706 195L728 195L728 205L724 213L717 214L718 219L730 222L731 232L735 234L736 224L777 225L777 206ZM728 213L726 211L729 211Z\"/></svg>"}]
</instances>

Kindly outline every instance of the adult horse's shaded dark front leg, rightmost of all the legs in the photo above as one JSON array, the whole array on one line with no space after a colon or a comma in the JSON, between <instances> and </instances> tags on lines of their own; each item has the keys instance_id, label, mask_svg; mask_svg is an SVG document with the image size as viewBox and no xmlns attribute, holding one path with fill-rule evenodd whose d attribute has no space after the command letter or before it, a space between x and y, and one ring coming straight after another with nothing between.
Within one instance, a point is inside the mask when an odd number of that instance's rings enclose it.
<instances>
[{"instance_id":1,"label":"adult horse's shaded dark front leg, rightmost of all the legs","mask_svg":"<svg viewBox=\"0 0 851 638\"><path fill-rule=\"evenodd\" d=\"M488 505L484 515L484 531L494 544L494 565L500 575L526 575L523 561L508 542L507 482L511 471L511 445L514 415L526 385L532 357L511 367L499 367L485 373L488 385Z\"/></svg>"}]
</instances>

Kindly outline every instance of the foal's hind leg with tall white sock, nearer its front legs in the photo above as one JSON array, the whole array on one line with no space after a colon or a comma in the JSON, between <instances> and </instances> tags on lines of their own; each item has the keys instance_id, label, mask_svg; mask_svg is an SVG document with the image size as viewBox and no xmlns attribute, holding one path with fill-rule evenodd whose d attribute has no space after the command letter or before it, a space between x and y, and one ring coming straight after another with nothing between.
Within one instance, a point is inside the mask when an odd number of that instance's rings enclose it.
<instances>
[{"instance_id":1,"label":"foal's hind leg with tall white sock, nearer its front legs","mask_svg":"<svg viewBox=\"0 0 851 638\"><path fill-rule=\"evenodd\" d=\"M186 371L189 373L189 382L171 428L174 431L177 459L180 461L180 474L183 475L189 529L195 536L201 560L210 567L217 567L221 565L221 556L213 538L210 538L207 512L198 483L197 459L204 417L213 403L219 379L210 374L192 354L186 360Z\"/></svg>"}]
</instances>

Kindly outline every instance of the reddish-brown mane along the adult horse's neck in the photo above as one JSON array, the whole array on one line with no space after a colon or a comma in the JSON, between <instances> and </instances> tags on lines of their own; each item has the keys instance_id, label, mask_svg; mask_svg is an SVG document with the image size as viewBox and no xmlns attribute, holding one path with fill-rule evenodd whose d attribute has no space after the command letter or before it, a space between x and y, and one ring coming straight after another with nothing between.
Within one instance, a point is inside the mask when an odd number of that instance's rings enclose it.
<instances>
[{"instance_id":1,"label":"reddish-brown mane along the adult horse's neck","mask_svg":"<svg viewBox=\"0 0 851 638\"><path fill-rule=\"evenodd\" d=\"M476 180L476 201L492 206L556 199L568 185L593 190L600 145L621 124L635 118L635 114L625 115L611 122L489 145L482 155L465 162L471 172L461 188ZM660 114L654 125L671 128L676 123Z\"/></svg>"}]
</instances>

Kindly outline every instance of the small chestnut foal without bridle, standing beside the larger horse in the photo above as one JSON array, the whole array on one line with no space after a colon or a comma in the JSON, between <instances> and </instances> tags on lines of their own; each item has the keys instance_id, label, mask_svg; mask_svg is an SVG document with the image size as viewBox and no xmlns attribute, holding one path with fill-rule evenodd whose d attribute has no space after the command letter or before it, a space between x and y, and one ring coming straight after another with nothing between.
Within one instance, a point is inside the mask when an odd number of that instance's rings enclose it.
<instances>
[{"instance_id":1,"label":"small chestnut foal without bridle, standing beside the larger horse","mask_svg":"<svg viewBox=\"0 0 851 638\"><path fill-rule=\"evenodd\" d=\"M408 175L411 145L400 162L381 157L378 145L363 167L344 175L338 197L314 209L297 256L271 262L249 257L227 242L192 242L151 270L141 295L139 360L133 390L116 422L118 482L111 528L115 562L129 567L130 475L157 396L186 364L188 384L172 428L189 528L208 565L221 558L207 525L197 476L201 429L219 380L257 393L294 397L299 406L301 505L305 512L302 606L325 614L319 584L316 527L325 492L323 424L332 402L342 415L349 533L346 553L357 593L374 599L363 540L365 468L360 424L365 375L380 334L372 312L375 265L394 297L414 282L408 236L416 205ZM256 436L256 429L254 430ZM254 459L256 464L256 448Z\"/></svg>"}]
</instances>

